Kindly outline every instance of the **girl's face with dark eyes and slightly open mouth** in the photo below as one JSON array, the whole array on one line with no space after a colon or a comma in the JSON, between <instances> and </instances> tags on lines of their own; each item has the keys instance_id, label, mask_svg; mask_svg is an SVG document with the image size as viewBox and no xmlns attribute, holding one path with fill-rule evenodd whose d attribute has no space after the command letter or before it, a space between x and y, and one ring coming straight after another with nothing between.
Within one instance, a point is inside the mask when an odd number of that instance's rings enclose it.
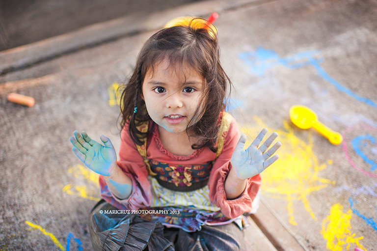
<instances>
[{"instance_id":1,"label":"girl's face with dark eyes and slightly open mouth","mask_svg":"<svg viewBox=\"0 0 377 251\"><path fill-rule=\"evenodd\" d=\"M159 129L184 134L200 106L203 78L191 67L169 67L169 60L164 59L154 72L147 72L142 91L148 114Z\"/></svg>"}]
</instances>

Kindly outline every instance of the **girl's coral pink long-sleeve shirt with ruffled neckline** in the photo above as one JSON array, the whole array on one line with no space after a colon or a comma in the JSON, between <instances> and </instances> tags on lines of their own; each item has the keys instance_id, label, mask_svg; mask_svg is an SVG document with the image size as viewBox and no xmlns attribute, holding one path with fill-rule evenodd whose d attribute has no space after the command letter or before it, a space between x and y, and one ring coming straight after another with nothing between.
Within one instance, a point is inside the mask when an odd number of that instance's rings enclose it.
<instances>
[{"instance_id":1,"label":"girl's coral pink long-sleeve shirt with ruffled neckline","mask_svg":"<svg viewBox=\"0 0 377 251\"><path fill-rule=\"evenodd\" d=\"M152 126L151 121L149 126ZM159 138L157 125L147 138L147 157L150 160L169 163L172 165L203 165L215 160L209 175L209 199L212 204L220 208L228 218L236 218L245 212L251 211L251 204L261 186L260 174L247 179L245 190L235 199L226 199L224 183L232 168L230 163L233 151L240 139L240 131L234 118L224 139L221 154L215 159L215 153L208 147L195 150L189 156L177 156L167 151ZM127 125L122 131L119 150L118 166L132 180L132 194L120 200L112 195L103 178L100 176L101 196L118 209L137 210L149 207L152 201L151 184L148 181L148 171L140 156L135 143L130 138ZM182 192L185 193L185 192Z\"/></svg>"}]
</instances>

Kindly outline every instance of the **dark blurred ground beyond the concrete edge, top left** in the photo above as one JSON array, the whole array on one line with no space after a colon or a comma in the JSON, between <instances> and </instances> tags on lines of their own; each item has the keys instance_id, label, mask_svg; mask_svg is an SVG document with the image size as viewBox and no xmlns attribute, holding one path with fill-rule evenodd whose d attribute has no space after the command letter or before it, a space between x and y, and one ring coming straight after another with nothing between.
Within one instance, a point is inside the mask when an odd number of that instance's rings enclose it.
<instances>
[{"instance_id":1,"label":"dark blurred ground beyond the concrete edge, top left","mask_svg":"<svg viewBox=\"0 0 377 251\"><path fill-rule=\"evenodd\" d=\"M1 0L0 51L125 15L148 15L193 1L195 0Z\"/></svg>"}]
</instances>

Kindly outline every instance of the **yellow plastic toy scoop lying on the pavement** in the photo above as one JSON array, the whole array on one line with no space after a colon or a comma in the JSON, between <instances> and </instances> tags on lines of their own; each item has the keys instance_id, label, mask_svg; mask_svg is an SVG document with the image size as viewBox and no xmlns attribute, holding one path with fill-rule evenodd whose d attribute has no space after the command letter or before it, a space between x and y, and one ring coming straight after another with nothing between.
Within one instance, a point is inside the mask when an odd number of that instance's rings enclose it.
<instances>
[{"instance_id":1,"label":"yellow plastic toy scoop lying on the pavement","mask_svg":"<svg viewBox=\"0 0 377 251\"><path fill-rule=\"evenodd\" d=\"M301 129L309 129L313 127L326 137L332 144L342 143L343 137L340 133L332 131L330 128L318 121L317 114L305 106L291 107L289 114L292 123Z\"/></svg>"}]
</instances>

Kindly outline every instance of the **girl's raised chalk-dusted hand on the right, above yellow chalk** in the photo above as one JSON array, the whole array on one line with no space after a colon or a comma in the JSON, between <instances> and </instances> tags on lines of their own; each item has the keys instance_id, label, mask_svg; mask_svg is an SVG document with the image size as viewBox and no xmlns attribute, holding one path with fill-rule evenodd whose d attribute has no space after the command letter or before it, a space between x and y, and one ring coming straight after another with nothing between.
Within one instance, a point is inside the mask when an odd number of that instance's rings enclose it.
<instances>
[{"instance_id":1,"label":"girl's raised chalk-dusted hand on the right, above yellow chalk","mask_svg":"<svg viewBox=\"0 0 377 251\"><path fill-rule=\"evenodd\" d=\"M272 133L269 138L259 146L267 131L267 128L264 128L245 150L243 150L243 146L246 142L246 135L243 134L241 136L231 159L232 168L235 168L238 178L247 179L253 177L261 173L279 158L278 155L273 154L279 149L281 143L276 142L269 148L272 141L277 137L276 132Z\"/></svg>"}]
</instances>

